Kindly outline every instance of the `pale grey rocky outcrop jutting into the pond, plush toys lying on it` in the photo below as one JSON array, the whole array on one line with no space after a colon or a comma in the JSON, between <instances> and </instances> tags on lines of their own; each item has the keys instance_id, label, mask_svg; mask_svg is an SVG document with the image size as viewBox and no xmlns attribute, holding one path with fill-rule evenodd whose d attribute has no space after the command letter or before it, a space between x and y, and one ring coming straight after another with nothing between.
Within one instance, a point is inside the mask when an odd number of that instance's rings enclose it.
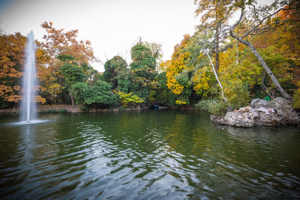
<instances>
[{"instance_id":1,"label":"pale grey rocky outcrop jutting into the pond, plush toys lying on it","mask_svg":"<svg viewBox=\"0 0 300 200\"><path fill-rule=\"evenodd\" d=\"M253 99L250 107L245 107L242 111L228 112L221 117L211 115L211 121L238 127L298 125L299 114L288 100L277 97L273 101Z\"/></svg>"}]
</instances>

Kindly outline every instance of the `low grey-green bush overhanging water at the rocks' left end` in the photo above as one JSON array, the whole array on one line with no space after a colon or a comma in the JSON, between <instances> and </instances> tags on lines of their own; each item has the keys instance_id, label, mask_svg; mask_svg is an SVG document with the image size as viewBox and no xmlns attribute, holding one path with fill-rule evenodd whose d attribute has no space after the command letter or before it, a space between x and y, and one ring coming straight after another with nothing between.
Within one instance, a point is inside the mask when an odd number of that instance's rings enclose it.
<instances>
[{"instance_id":1,"label":"low grey-green bush overhanging water at the rocks' left end","mask_svg":"<svg viewBox=\"0 0 300 200\"><path fill-rule=\"evenodd\" d=\"M220 97L198 101L196 106L213 113L214 115L225 115L227 104Z\"/></svg>"}]
</instances>

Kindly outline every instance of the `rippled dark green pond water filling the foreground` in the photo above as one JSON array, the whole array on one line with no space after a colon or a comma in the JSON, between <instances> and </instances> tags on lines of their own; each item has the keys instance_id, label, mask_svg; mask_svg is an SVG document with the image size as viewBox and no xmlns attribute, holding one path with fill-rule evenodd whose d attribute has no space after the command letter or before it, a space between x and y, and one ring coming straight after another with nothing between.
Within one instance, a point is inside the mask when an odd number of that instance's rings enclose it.
<instances>
[{"instance_id":1,"label":"rippled dark green pond water filling the foreground","mask_svg":"<svg viewBox=\"0 0 300 200\"><path fill-rule=\"evenodd\" d=\"M300 128L219 130L209 113L0 115L1 199L289 199Z\"/></svg>"}]
</instances>

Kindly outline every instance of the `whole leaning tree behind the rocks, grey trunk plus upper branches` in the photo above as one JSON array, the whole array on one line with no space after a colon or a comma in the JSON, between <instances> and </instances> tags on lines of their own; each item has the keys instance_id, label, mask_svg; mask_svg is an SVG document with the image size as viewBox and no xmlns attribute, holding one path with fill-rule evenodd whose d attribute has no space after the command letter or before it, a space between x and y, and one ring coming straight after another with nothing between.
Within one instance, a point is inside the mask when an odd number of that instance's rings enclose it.
<instances>
[{"instance_id":1,"label":"whole leaning tree behind the rocks, grey trunk plus upper branches","mask_svg":"<svg viewBox=\"0 0 300 200\"><path fill-rule=\"evenodd\" d=\"M295 20L278 20L275 16L283 10L294 10L298 9L294 1L289 1L287 7L281 7L286 4L286 1L275 1L273 4L267 6L256 6L252 4L252 1L237 1L235 6L241 9L241 15L237 22L229 30L230 36L238 40L240 43L248 46L259 62L262 64L263 68L267 74L272 79L275 87L280 92L280 94L293 102L292 96L286 93L286 91L281 87L280 83L277 81L277 78L274 76L271 69L265 63L265 60L258 53L256 48L246 40L246 37L262 34L264 32L273 30L274 28L280 28L280 24L287 21ZM249 11L246 12L246 6L249 7ZM281 7L278 9L278 7ZM275 10L273 12L273 10Z\"/></svg>"}]
</instances>

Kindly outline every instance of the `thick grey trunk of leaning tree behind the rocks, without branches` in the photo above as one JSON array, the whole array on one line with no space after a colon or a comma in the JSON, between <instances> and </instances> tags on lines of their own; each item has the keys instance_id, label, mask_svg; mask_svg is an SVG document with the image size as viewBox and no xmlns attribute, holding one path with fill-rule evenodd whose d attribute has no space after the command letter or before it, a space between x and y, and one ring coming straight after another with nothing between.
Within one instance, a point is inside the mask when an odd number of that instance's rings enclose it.
<instances>
[{"instance_id":1,"label":"thick grey trunk of leaning tree behind the rocks, without branches","mask_svg":"<svg viewBox=\"0 0 300 200\"><path fill-rule=\"evenodd\" d=\"M230 35L232 36L232 31L230 30ZM232 36L233 37L233 36ZM285 90L283 90L283 88L281 87L281 85L279 84L279 82L277 81L277 78L274 76L274 74L272 73L271 69L268 67L268 65L265 63L265 61L262 59L262 57L259 55L259 53L256 51L255 47L248 41L243 40L242 37L234 37L236 38L240 43L248 46L251 51L253 52L253 54L255 55L255 57L259 60L259 62L262 64L263 68L265 69L265 71L268 73L268 75L271 77L273 83L275 84L277 90L280 92L280 94L286 98L287 100L289 100L291 103L294 102L293 98L291 95L289 95L288 93L286 93Z\"/></svg>"}]
</instances>

